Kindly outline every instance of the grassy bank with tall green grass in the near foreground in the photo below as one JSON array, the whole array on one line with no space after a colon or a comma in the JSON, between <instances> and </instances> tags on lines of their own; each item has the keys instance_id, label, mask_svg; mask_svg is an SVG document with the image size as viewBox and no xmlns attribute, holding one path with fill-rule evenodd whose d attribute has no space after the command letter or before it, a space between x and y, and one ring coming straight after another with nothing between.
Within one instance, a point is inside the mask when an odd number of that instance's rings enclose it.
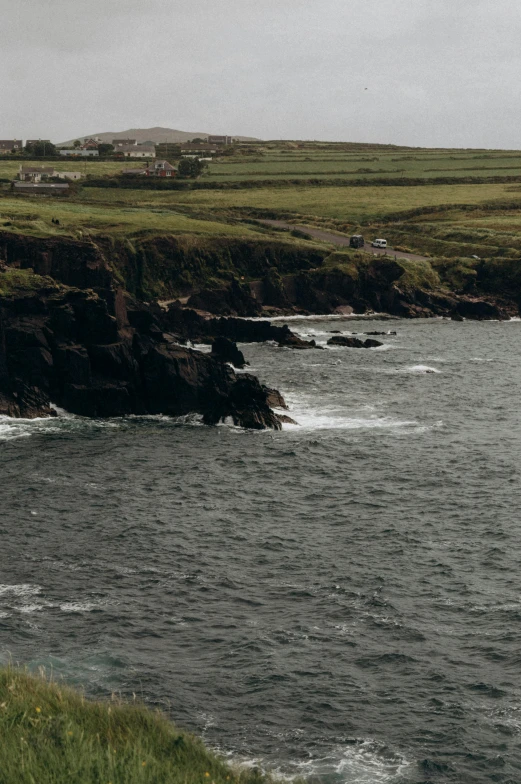
<instances>
[{"instance_id":1,"label":"grassy bank with tall green grass in the near foreground","mask_svg":"<svg viewBox=\"0 0 521 784\"><path fill-rule=\"evenodd\" d=\"M1 784L262 784L162 714L0 670Z\"/></svg>"}]
</instances>

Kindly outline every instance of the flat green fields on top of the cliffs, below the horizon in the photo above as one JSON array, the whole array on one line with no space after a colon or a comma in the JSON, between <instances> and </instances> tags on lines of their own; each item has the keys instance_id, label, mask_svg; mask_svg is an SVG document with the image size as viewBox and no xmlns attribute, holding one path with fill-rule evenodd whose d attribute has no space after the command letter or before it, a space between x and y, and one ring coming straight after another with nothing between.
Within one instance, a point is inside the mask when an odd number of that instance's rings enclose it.
<instances>
[{"instance_id":1,"label":"flat green fields on top of the cliffs, below the horizon","mask_svg":"<svg viewBox=\"0 0 521 784\"><path fill-rule=\"evenodd\" d=\"M0 163L0 176L6 167L13 176L18 165ZM136 164L56 164L62 169L76 165L94 176L111 176ZM467 176L485 181L457 182ZM5 229L33 235L155 232L250 238L270 233L243 222L264 213L344 233L360 229L369 239L388 236L394 245L423 253L508 255L521 249L521 184L492 181L505 176L521 178L520 151L256 143L210 164L201 184L213 184L212 189L85 187L60 201L4 192L0 228L3 223ZM375 178L387 184L371 185ZM398 184L403 178L422 184ZM429 184L432 178L446 182ZM288 179L297 182L288 184ZM353 180L366 184L349 185ZM234 182L241 187L233 187ZM59 226L51 223L53 217Z\"/></svg>"}]
</instances>

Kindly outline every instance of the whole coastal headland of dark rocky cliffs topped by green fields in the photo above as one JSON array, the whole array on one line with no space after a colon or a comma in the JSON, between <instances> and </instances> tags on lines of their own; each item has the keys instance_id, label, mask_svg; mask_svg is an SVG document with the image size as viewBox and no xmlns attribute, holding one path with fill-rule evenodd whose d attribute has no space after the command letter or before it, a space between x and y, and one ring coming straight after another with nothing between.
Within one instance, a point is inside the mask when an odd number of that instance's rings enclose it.
<instances>
[{"instance_id":1,"label":"whole coastal headland of dark rocky cliffs topped by green fields","mask_svg":"<svg viewBox=\"0 0 521 784\"><path fill-rule=\"evenodd\" d=\"M118 175L115 161L93 163L103 176L93 168L67 198L5 186L0 412L195 413L207 424L277 429L275 398L235 372L235 348L208 354L194 343L314 347L287 327L237 318L517 317L520 186L496 171L515 167L516 155L250 142L166 189ZM430 172L442 158L439 183ZM403 166L384 182L381 168L395 159ZM290 183L296 166L302 181ZM352 233L365 236L363 248L349 247ZM372 251L374 236L388 239L387 251Z\"/></svg>"}]
</instances>

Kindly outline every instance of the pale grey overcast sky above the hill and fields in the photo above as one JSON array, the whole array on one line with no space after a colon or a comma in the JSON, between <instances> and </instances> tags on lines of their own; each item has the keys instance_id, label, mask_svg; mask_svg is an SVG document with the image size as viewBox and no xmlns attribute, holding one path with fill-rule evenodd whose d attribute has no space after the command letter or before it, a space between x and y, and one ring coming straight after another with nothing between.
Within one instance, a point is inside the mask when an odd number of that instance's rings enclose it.
<instances>
[{"instance_id":1,"label":"pale grey overcast sky above the hill and fields","mask_svg":"<svg viewBox=\"0 0 521 784\"><path fill-rule=\"evenodd\" d=\"M519 0L2 5L3 139L161 125L521 148Z\"/></svg>"}]
</instances>

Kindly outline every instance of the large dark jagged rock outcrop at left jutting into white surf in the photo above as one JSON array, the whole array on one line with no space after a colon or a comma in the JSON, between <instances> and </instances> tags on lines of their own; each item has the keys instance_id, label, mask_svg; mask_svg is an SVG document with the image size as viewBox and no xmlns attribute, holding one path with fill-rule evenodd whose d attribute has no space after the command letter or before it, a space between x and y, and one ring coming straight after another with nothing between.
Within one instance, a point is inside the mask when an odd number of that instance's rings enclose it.
<instances>
[{"instance_id":1,"label":"large dark jagged rock outcrop at left jutting into white surf","mask_svg":"<svg viewBox=\"0 0 521 784\"><path fill-rule=\"evenodd\" d=\"M0 297L0 413L50 416L52 400L88 417L194 412L211 424L280 428L254 376L179 345L146 308L129 318L122 297L104 293L62 286Z\"/></svg>"}]
</instances>

